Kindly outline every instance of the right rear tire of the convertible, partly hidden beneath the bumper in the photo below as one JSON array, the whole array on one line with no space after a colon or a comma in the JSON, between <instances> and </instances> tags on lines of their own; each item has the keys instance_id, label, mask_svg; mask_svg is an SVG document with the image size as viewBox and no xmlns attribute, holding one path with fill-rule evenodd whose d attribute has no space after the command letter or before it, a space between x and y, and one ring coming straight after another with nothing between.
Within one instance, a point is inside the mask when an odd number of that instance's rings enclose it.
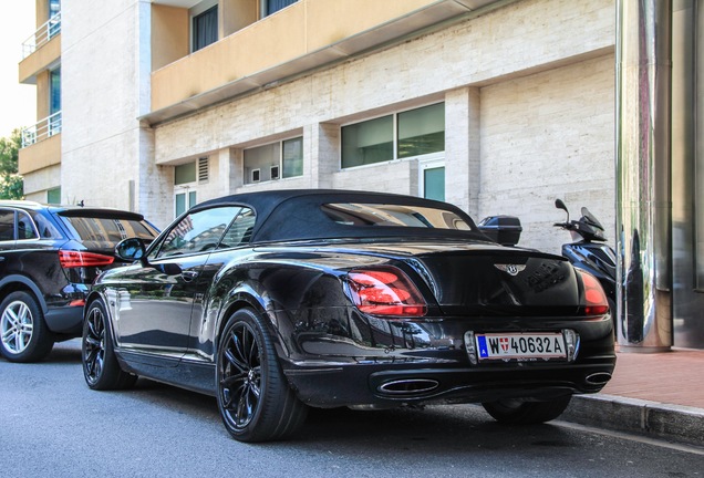
<instances>
[{"instance_id":1,"label":"right rear tire of the convertible, partly hidden beneath the bumper","mask_svg":"<svg viewBox=\"0 0 704 478\"><path fill-rule=\"evenodd\" d=\"M503 399L483 403L497 422L506 424L538 424L559 417L572 399L571 395L548 402L525 402L522 399Z\"/></svg>"}]
</instances>

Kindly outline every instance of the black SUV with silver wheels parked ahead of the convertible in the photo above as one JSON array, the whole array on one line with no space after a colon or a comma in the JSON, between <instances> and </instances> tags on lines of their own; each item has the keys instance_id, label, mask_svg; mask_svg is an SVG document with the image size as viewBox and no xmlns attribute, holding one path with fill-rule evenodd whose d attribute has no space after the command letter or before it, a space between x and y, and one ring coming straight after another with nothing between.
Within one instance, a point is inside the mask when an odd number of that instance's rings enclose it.
<instances>
[{"instance_id":1,"label":"black SUV with silver wheels parked ahead of the convertible","mask_svg":"<svg viewBox=\"0 0 704 478\"><path fill-rule=\"evenodd\" d=\"M0 354L34 362L77 337L87 290L128 237L151 241L142 215L0 200Z\"/></svg>"}]
</instances>

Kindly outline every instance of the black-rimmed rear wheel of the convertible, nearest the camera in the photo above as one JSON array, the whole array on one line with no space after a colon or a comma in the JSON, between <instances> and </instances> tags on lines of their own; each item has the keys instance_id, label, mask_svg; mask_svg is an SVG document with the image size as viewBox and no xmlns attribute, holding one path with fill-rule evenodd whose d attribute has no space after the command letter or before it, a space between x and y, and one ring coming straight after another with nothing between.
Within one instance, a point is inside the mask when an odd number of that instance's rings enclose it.
<instances>
[{"instance_id":1,"label":"black-rimmed rear wheel of the convertible, nearest the camera","mask_svg":"<svg viewBox=\"0 0 704 478\"><path fill-rule=\"evenodd\" d=\"M218 343L217 402L230 435L255 443L294 434L308 407L289 386L261 316L251 309L238 310Z\"/></svg>"}]
</instances>

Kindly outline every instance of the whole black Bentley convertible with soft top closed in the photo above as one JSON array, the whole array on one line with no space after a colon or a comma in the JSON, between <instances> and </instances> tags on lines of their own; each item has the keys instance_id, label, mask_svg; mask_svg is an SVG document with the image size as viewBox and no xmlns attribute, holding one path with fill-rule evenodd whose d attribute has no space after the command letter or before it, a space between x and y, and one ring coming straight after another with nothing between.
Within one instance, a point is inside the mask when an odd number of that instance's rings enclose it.
<instances>
[{"instance_id":1,"label":"whole black Bentley convertible with soft top closed","mask_svg":"<svg viewBox=\"0 0 704 478\"><path fill-rule=\"evenodd\" d=\"M217 397L238 440L289 437L309 407L482 403L501 422L559 416L615 363L599 282L504 247L457 207L278 190L200 204L116 248L89 295L94 389L144 376Z\"/></svg>"}]
</instances>

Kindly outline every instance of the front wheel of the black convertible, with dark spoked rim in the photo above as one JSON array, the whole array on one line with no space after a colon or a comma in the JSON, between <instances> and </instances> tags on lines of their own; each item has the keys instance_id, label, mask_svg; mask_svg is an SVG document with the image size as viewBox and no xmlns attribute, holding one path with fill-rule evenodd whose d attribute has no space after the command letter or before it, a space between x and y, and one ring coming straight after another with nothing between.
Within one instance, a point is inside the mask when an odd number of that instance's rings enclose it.
<instances>
[{"instance_id":1,"label":"front wheel of the black convertible, with dark spoked rim","mask_svg":"<svg viewBox=\"0 0 704 478\"><path fill-rule=\"evenodd\" d=\"M83 321L81 357L83 377L92 389L124 389L137 381L136 375L120 367L105 305L100 300L91 303Z\"/></svg>"}]
</instances>

